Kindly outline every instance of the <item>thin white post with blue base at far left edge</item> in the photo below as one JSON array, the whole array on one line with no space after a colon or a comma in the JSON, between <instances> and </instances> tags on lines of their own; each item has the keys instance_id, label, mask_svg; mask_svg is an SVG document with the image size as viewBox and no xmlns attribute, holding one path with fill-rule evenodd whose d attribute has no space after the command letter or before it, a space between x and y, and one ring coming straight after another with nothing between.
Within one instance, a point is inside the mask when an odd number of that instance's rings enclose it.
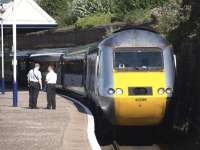
<instances>
[{"instance_id":1,"label":"thin white post with blue base at far left edge","mask_svg":"<svg viewBox=\"0 0 200 150\"><path fill-rule=\"evenodd\" d=\"M4 30L3 30L3 14L6 10L4 9L3 7L3 4L1 3L0 4L0 14L1 14L1 69L2 69L2 72L1 72L1 75L2 75L2 78L1 78L1 93L2 94L5 94L5 75L4 75Z\"/></svg>"}]
</instances>

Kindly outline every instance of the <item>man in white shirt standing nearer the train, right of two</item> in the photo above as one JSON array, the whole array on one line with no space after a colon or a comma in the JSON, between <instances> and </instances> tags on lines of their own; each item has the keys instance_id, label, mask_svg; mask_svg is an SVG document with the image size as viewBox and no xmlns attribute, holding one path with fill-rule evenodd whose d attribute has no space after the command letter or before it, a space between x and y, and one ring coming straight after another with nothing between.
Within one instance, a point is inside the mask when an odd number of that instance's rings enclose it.
<instances>
[{"instance_id":1,"label":"man in white shirt standing nearer the train, right of two","mask_svg":"<svg viewBox=\"0 0 200 150\"><path fill-rule=\"evenodd\" d=\"M57 74L54 72L54 66L49 65L46 76L47 83L47 109L56 109L56 82Z\"/></svg>"}]
</instances>

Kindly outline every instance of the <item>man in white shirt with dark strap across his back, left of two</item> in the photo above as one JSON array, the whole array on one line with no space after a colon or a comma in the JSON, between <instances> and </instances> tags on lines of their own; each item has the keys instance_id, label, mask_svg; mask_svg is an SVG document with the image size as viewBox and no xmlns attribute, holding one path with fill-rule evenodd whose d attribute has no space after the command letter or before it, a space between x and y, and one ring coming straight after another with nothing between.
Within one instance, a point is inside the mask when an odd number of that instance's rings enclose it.
<instances>
[{"instance_id":1,"label":"man in white shirt with dark strap across his back, left of two","mask_svg":"<svg viewBox=\"0 0 200 150\"><path fill-rule=\"evenodd\" d=\"M40 89L42 89L42 75L39 71L40 64L36 63L27 75L29 85L29 108L37 109L37 99Z\"/></svg>"}]
</instances>

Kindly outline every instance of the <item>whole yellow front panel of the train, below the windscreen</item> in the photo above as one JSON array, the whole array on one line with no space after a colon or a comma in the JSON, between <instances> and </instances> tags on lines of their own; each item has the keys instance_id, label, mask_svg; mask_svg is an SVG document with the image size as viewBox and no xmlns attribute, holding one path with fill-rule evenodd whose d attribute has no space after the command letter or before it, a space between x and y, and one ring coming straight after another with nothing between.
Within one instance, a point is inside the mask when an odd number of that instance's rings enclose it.
<instances>
[{"instance_id":1,"label":"whole yellow front panel of the train, below the windscreen","mask_svg":"<svg viewBox=\"0 0 200 150\"><path fill-rule=\"evenodd\" d=\"M119 125L155 125L165 115L168 94L163 72L126 72L114 75L114 107ZM116 92L117 89L121 89ZM122 92L123 91L123 92Z\"/></svg>"}]
</instances>

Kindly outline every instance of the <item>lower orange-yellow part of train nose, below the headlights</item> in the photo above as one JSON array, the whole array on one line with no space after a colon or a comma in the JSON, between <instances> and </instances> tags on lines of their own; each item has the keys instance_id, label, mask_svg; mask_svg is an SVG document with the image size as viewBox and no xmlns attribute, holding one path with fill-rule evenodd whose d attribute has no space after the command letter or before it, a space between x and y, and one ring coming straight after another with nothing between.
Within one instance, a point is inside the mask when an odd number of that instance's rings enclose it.
<instances>
[{"instance_id":1,"label":"lower orange-yellow part of train nose, below the headlights","mask_svg":"<svg viewBox=\"0 0 200 150\"><path fill-rule=\"evenodd\" d=\"M120 125L159 124L164 117L166 98L156 97L115 97L115 115Z\"/></svg>"}]
</instances>

